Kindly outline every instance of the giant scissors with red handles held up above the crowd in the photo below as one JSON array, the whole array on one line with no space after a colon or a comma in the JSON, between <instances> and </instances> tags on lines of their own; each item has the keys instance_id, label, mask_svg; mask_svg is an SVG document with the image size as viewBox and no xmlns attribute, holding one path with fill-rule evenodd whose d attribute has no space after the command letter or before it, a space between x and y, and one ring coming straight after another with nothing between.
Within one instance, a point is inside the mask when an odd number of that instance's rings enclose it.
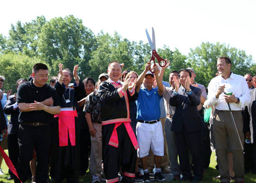
<instances>
[{"instance_id":1,"label":"giant scissors with red handles held up above the crowd","mask_svg":"<svg viewBox=\"0 0 256 183\"><path fill-rule=\"evenodd\" d=\"M156 53L156 50L155 50L155 31L154 31L154 28L152 27L152 40L150 39L150 36L148 34L148 30L146 29L146 34L147 34L147 37L148 37L148 42L149 42L149 45L151 47L151 50L152 50L152 57L150 60L153 60L154 62L154 66L155 66L155 58L158 60L158 64L161 66L161 67L164 67L166 65L166 61L164 59L162 59L158 53ZM162 63L164 62L164 63ZM161 64L162 63L162 64ZM150 72L154 73L151 69L150 69Z\"/></svg>"}]
</instances>

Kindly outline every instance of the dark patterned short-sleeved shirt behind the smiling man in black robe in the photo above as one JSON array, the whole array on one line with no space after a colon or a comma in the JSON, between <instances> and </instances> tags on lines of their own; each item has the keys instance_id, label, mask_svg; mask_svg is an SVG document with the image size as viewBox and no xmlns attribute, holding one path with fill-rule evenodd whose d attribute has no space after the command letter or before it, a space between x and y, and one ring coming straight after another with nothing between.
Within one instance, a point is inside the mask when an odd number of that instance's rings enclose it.
<instances>
[{"instance_id":1,"label":"dark patterned short-sleeved shirt behind the smiling man in black robe","mask_svg":"<svg viewBox=\"0 0 256 183\"><path fill-rule=\"evenodd\" d=\"M93 123L101 124L101 97L96 91L86 97L83 111L91 114L91 121Z\"/></svg>"}]
</instances>

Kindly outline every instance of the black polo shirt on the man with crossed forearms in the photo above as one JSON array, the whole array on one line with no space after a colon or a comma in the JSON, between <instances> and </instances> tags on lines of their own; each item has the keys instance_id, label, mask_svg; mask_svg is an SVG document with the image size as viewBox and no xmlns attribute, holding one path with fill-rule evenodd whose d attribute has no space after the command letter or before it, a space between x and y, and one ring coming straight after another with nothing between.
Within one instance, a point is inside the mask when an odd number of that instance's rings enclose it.
<instances>
[{"instance_id":1,"label":"black polo shirt on the man with crossed forearms","mask_svg":"<svg viewBox=\"0 0 256 183\"><path fill-rule=\"evenodd\" d=\"M33 80L22 83L19 86L17 93L18 103L34 103L34 101L42 102L49 97L53 97L53 106L60 106L60 99L55 88L49 84L45 84L43 87L36 87L33 84ZM20 112L19 122L24 123L51 123L54 115L45 111L31 111Z\"/></svg>"}]
</instances>

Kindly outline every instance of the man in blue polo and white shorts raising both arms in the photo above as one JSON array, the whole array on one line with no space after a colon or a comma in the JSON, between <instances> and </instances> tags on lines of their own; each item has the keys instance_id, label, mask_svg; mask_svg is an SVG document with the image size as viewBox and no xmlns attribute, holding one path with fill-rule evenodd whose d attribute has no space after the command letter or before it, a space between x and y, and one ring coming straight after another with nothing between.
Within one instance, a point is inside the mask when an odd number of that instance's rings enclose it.
<instances>
[{"instance_id":1,"label":"man in blue polo and white shorts raising both arms","mask_svg":"<svg viewBox=\"0 0 256 183\"><path fill-rule=\"evenodd\" d=\"M148 173L148 153L151 148L154 153L156 166L155 179L165 181L161 174L161 156L164 156L164 135L160 118L159 102L162 98L162 81L158 76L158 67L154 66L157 88L153 88L154 74L149 71L150 62L146 64L145 70L139 75L136 90L138 92L137 104L137 126L136 134L139 144L138 156L144 171L143 182L150 182ZM141 88L143 82L144 87Z\"/></svg>"}]
</instances>

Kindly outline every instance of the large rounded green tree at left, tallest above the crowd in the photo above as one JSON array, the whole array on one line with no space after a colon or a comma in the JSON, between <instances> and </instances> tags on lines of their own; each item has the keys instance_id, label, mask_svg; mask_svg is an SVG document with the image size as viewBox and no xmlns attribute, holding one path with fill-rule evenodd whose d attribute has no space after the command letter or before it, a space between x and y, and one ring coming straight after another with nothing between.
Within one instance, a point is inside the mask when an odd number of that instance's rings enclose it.
<instances>
[{"instance_id":1,"label":"large rounded green tree at left, tallest above the crowd","mask_svg":"<svg viewBox=\"0 0 256 183\"><path fill-rule=\"evenodd\" d=\"M91 30L83 26L82 20L72 15L51 19L39 34L40 57L49 65L59 62L71 70L79 64L80 71L83 71L80 73L82 77L90 71L89 60L96 46ZM56 74L55 68L53 73Z\"/></svg>"}]
</instances>

